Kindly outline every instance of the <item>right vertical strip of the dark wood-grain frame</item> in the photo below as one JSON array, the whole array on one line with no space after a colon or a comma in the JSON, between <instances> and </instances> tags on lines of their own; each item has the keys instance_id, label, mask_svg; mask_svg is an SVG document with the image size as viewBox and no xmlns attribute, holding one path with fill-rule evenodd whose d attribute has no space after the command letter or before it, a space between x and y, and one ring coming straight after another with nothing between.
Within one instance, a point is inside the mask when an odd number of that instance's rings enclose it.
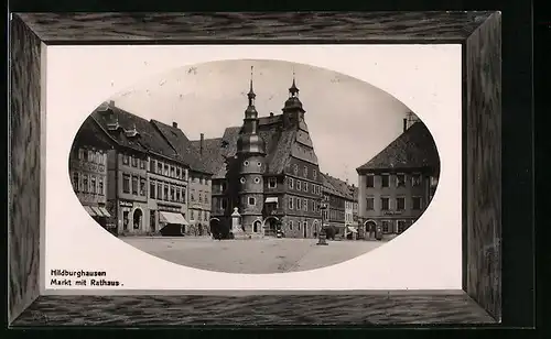
<instances>
[{"instance_id":1,"label":"right vertical strip of the dark wood-grain frame","mask_svg":"<svg viewBox=\"0 0 551 339\"><path fill-rule=\"evenodd\" d=\"M501 35L493 14L466 42L466 292L501 318Z\"/></svg>"}]
</instances>

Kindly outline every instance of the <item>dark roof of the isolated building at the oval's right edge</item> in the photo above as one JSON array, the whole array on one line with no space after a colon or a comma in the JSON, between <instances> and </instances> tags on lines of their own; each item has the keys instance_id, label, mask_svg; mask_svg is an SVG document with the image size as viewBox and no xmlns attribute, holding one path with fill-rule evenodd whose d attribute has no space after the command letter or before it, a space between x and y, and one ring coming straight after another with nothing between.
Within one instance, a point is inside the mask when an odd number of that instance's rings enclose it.
<instances>
[{"instance_id":1,"label":"dark roof of the isolated building at the oval's right edge","mask_svg":"<svg viewBox=\"0 0 551 339\"><path fill-rule=\"evenodd\" d=\"M437 170L440 157L431 132L418 121L356 172L426 167Z\"/></svg>"}]
</instances>

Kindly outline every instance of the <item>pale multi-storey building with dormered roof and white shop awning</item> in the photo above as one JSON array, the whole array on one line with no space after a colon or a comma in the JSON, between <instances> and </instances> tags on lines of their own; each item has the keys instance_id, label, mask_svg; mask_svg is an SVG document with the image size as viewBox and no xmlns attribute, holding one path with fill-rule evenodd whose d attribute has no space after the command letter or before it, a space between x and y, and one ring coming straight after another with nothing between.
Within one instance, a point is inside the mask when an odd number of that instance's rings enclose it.
<instances>
[{"instance_id":1,"label":"pale multi-storey building with dormered roof and white shop awning","mask_svg":"<svg viewBox=\"0 0 551 339\"><path fill-rule=\"evenodd\" d=\"M101 105L88 118L108 138L107 207L118 234L190 233L188 173L193 151L181 154L160 122ZM198 158L198 154L195 154Z\"/></svg>"}]
</instances>

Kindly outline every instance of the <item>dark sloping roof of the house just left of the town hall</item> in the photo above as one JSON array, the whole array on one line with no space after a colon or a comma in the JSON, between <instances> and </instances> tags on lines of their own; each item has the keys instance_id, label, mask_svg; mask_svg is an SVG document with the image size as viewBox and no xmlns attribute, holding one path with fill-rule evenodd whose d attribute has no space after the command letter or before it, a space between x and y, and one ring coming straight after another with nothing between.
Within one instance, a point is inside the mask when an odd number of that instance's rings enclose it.
<instances>
[{"instance_id":1,"label":"dark sloping roof of the house just left of the town hall","mask_svg":"<svg viewBox=\"0 0 551 339\"><path fill-rule=\"evenodd\" d=\"M213 174L213 172L208 171L201 161L198 150L192 144L181 129L158 120L151 120L151 123L158 129L159 133L164 136L171 147L177 152L180 160L188 165L191 170Z\"/></svg>"}]
</instances>

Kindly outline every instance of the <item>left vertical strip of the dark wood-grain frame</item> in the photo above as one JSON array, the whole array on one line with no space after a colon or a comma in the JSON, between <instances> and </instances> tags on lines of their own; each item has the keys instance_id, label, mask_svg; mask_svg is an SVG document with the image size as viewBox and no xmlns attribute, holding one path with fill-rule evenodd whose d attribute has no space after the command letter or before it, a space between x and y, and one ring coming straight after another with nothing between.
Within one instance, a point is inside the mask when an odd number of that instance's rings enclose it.
<instances>
[{"instance_id":1,"label":"left vertical strip of the dark wood-grain frame","mask_svg":"<svg viewBox=\"0 0 551 339\"><path fill-rule=\"evenodd\" d=\"M18 18L10 34L9 321L39 296L41 179L41 41Z\"/></svg>"}]
</instances>

